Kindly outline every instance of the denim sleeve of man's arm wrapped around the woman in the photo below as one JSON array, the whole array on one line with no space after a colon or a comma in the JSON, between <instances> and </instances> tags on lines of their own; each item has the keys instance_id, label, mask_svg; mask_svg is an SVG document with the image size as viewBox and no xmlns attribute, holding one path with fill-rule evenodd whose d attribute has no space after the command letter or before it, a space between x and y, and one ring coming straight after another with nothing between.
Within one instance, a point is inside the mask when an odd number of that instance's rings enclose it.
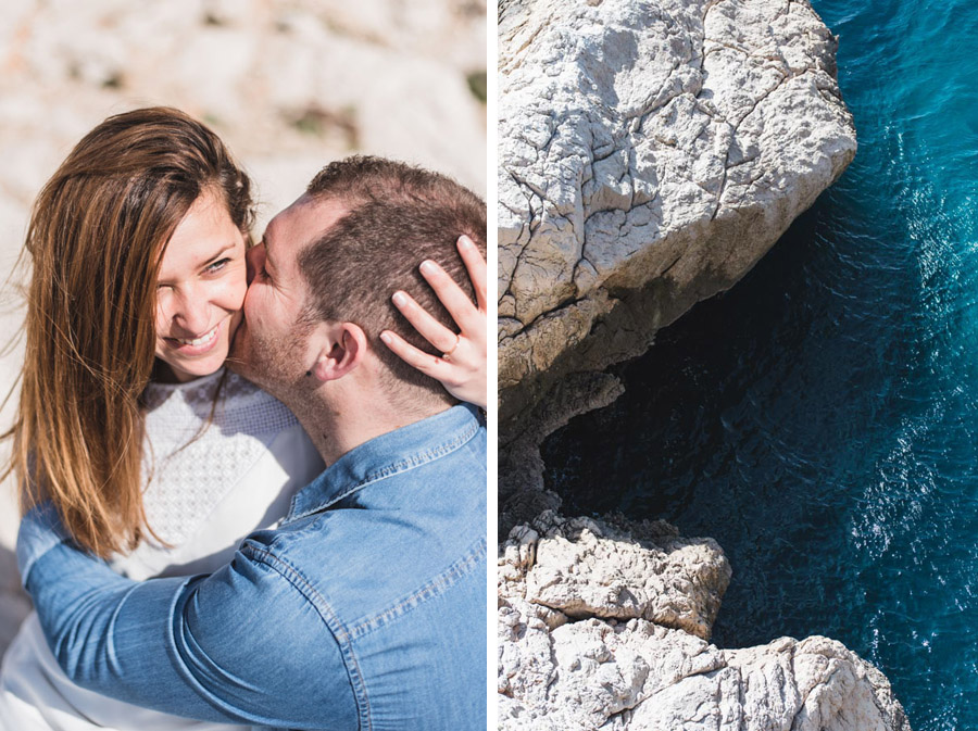
<instances>
[{"instance_id":1,"label":"denim sleeve of man's arm wrapped around the woman","mask_svg":"<svg viewBox=\"0 0 978 731\"><path fill-rule=\"evenodd\" d=\"M75 683L208 721L358 728L336 638L261 552L211 576L136 582L25 516L17 555L48 644Z\"/></svg>"}]
</instances>

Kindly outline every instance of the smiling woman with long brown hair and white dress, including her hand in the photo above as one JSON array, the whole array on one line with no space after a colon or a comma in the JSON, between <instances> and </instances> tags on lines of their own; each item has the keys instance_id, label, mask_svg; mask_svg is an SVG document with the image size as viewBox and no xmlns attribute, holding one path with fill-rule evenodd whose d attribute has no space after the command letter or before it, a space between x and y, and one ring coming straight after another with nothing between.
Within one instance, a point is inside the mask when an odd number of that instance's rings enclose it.
<instances>
[{"instance_id":1,"label":"smiling woman with long brown hair and white dress, including her hand","mask_svg":"<svg viewBox=\"0 0 978 731\"><path fill-rule=\"evenodd\" d=\"M285 406L223 368L247 289L251 223L248 177L212 131L168 109L96 127L35 204L13 430L22 507L51 500L77 543L131 578L214 570L324 467ZM466 251L485 306L485 273ZM428 278L439 297L449 291L443 273ZM396 301L426 337L444 341L410 298ZM463 332L450 364L390 342L464 396L485 388L479 337ZM74 686L33 616L4 657L0 726L234 728Z\"/></svg>"}]
</instances>

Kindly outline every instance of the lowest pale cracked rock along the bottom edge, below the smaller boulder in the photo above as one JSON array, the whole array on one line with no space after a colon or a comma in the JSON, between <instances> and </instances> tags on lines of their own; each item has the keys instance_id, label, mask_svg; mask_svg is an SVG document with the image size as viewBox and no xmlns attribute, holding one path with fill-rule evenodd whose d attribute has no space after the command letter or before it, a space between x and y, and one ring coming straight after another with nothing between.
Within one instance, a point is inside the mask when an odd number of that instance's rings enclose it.
<instances>
[{"instance_id":1,"label":"lowest pale cracked rock along the bottom edge, below the smaller boulder","mask_svg":"<svg viewBox=\"0 0 978 731\"><path fill-rule=\"evenodd\" d=\"M827 638L720 650L644 619L551 628L517 596L498 628L506 731L910 731L882 673Z\"/></svg>"}]
</instances>

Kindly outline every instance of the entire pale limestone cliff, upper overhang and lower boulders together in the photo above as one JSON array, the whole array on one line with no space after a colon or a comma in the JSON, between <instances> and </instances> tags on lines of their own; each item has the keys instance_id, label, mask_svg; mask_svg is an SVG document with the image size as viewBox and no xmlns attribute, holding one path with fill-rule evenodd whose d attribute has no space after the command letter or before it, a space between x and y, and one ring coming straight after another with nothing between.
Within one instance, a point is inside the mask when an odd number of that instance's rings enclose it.
<instances>
[{"instance_id":1,"label":"entire pale limestone cliff, upper overhang and lower boulders together","mask_svg":"<svg viewBox=\"0 0 978 731\"><path fill-rule=\"evenodd\" d=\"M536 445L620 392L610 364L732 286L855 154L836 39L805 0L501 0L501 516ZM709 539L544 512L500 546L499 726L908 731L826 638L709 642Z\"/></svg>"}]
</instances>

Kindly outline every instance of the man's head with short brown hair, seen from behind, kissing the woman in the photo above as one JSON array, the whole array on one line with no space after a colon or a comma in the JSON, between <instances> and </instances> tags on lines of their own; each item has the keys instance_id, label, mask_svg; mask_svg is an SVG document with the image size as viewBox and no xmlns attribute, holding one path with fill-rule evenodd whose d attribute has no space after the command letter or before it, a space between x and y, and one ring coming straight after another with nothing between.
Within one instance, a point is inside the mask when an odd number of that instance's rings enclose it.
<instances>
[{"instance_id":1,"label":"man's head with short brown hair, seen from behind, kissing the woman","mask_svg":"<svg viewBox=\"0 0 978 731\"><path fill-rule=\"evenodd\" d=\"M347 388L369 382L408 412L451 404L379 335L396 330L434 353L391 304L399 289L455 329L417 267L438 262L474 299L455 250L463 234L485 254L485 203L453 180L378 157L327 165L251 254L255 274L234 350L240 369L287 403L359 371Z\"/></svg>"}]
</instances>

